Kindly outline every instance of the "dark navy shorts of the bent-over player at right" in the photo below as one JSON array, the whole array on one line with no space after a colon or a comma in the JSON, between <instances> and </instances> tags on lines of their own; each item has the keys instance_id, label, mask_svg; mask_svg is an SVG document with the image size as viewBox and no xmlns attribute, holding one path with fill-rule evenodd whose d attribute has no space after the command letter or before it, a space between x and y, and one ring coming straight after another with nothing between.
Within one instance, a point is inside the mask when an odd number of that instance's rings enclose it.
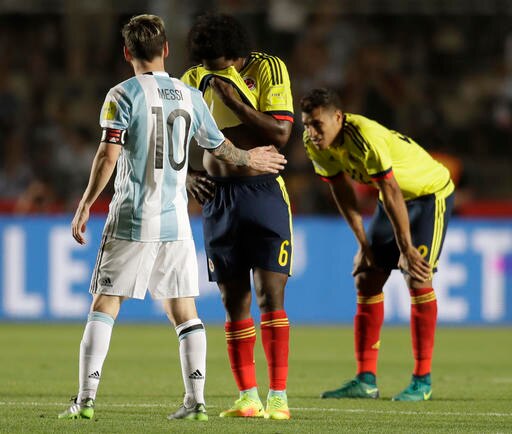
<instances>
[{"instance_id":1,"label":"dark navy shorts of the bent-over player at right","mask_svg":"<svg viewBox=\"0 0 512 434\"><path fill-rule=\"evenodd\" d=\"M446 227L453 210L454 193L448 197L429 194L407 201L412 243L427 259L433 271L443 247ZM375 262L385 270L398 268L400 250L395 241L393 226L382 202L379 201L368 228L368 238Z\"/></svg>"}]
</instances>

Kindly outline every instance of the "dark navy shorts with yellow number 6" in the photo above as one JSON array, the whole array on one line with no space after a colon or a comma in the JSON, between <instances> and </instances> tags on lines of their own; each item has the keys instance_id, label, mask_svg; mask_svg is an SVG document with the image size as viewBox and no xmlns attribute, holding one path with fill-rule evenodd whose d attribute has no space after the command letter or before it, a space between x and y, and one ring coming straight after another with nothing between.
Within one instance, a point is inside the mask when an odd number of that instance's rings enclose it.
<instances>
[{"instance_id":1,"label":"dark navy shorts with yellow number 6","mask_svg":"<svg viewBox=\"0 0 512 434\"><path fill-rule=\"evenodd\" d=\"M257 267L291 274L292 220L284 181L276 175L210 178L215 196L203 206L210 281Z\"/></svg>"}]
</instances>

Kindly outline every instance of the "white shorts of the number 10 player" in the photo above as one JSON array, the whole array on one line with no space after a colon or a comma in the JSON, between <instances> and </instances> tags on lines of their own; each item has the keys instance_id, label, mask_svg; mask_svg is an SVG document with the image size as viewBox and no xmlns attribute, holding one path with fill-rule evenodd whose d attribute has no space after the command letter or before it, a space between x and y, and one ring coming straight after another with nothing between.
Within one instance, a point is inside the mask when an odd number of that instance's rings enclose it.
<instances>
[{"instance_id":1,"label":"white shorts of the number 10 player","mask_svg":"<svg viewBox=\"0 0 512 434\"><path fill-rule=\"evenodd\" d=\"M155 300L197 297L194 240L140 242L104 236L91 279L91 294Z\"/></svg>"}]
</instances>

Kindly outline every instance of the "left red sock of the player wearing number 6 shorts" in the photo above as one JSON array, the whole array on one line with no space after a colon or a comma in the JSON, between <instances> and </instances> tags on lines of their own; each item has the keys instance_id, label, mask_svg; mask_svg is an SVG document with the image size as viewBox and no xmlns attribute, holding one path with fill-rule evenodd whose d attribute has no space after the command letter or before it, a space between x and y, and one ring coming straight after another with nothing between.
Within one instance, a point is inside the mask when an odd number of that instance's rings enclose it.
<instances>
[{"instance_id":1,"label":"left red sock of the player wearing number 6 shorts","mask_svg":"<svg viewBox=\"0 0 512 434\"><path fill-rule=\"evenodd\" d=\"M252 318L226 322L229 362L239 390L256 387L254 344L256 329Z\"/></svg>"}]
</instances>

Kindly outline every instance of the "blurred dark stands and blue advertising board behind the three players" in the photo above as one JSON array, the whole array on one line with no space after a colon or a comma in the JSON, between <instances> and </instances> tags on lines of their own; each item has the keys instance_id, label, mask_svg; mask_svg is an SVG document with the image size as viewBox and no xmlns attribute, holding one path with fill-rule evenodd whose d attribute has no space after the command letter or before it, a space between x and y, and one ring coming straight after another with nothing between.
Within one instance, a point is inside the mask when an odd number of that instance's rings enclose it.
<instances>
[{"instance_id":1,"label":"blurred dark stands and blue advertising board behind the three players","mask_svg":"<svg viewBox=\"0 0 512 434\"><path fill-rule=\"evenodd\" d=\"M297 235L291 315L350 323L353 313L353 237L306 159L297 115L308 89L330 86L346 111L413 137L452 172L456 218L440 267L440 319L511 323L510 0L0 0L0 319L84 317L112 183L94 207L88 248L73 244L68 225L99 141L105 93L132 74L120 27L135 14L161 15L171 49L167 68L179 77L190 66L187 31L208 10L235 15L255 49L288 65L296 108L284 149ZM358 195L370 215L375 191L358 187ZM194 200L190 211L201 262ZM222 321L215 286L200 267L205 316ZM311 287L318 301L305 315ZM400 291L387 291L388 321L407 322L407 294L400 301ZM322 303L326 294L330 303ZM60 309L58 300L77 304ZM133 306L126 315L161 318L151 306Z\"/></svg>"}]
</instances>

